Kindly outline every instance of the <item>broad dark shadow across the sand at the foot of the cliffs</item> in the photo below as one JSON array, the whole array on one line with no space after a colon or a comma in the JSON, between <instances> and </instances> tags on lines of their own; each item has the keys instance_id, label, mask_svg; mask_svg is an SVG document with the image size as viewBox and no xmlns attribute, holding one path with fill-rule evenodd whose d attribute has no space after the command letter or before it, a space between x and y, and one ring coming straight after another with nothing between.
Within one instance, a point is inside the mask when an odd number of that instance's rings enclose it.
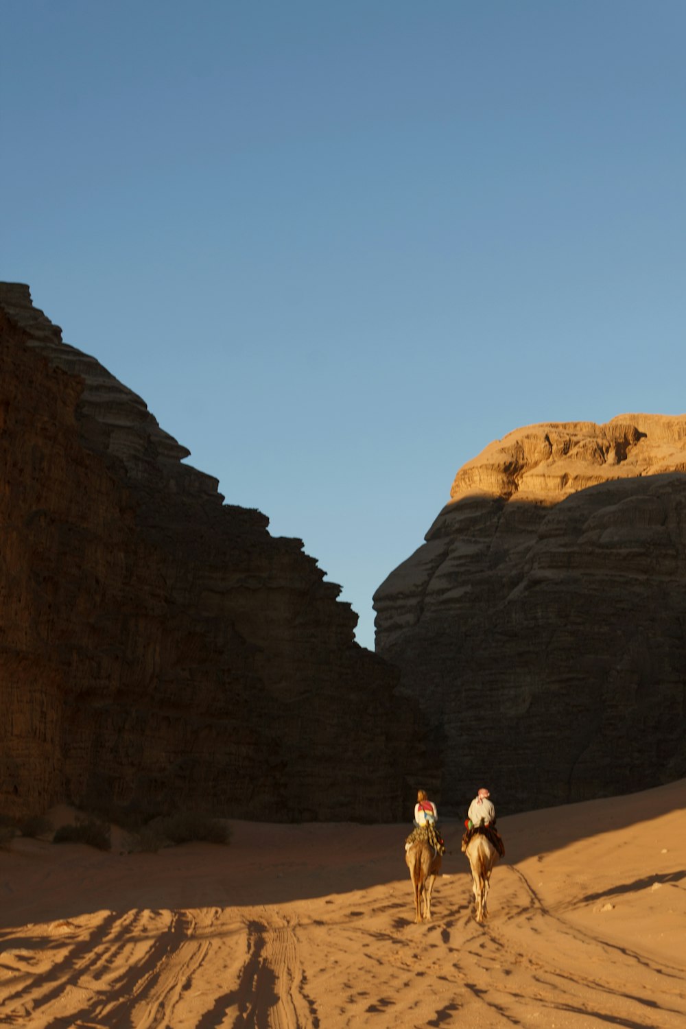
<instances>
[{"instance_id":1,"label":"broad dark shadow across the sand at the foot of the cliffs","mask_svg":"<svg viewBox=\"0 0 686 1029\"><path fill-rule=\"evenodd\" d=\"M499 817L503 863L516 864L642 822L646 832L654 832L652 819L684 807L686 780L681 780L643 793ZM409 824L231 824L228 846L184 844L156 854L102 853L80 844L16 840L0 852L2 926L16 929L122 907L241 909L336 894L350 894L346 918L353 920L364 914L359 891L388 886L393 892L399 883L407 883L409 890L403 850ZM446 844L442 872L464 875L467 889L464 825L446 819L441 828ZM657 843L667 847L670 841L660 838ZM404 895L402 899L404 908ZM396 900L389 897L389 909Z\"/></svg>"}]
</instances>

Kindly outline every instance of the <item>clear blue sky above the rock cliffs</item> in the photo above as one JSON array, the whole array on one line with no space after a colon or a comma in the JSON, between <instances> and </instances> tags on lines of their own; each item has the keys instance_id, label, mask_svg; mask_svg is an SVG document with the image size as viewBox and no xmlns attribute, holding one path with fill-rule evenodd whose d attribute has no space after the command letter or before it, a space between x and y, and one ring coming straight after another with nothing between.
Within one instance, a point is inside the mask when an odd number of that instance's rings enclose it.
<instances>
[{"instance_id":1,"label":"clear blue sky above the rock cliffs","mask_svg":"<svg viewBox=\"0 0 686 1029\"><path fill-rule=\"evenodd\" d=\"M458 468L686 411L684 0L0 0L0 278L371 596Z\"/></svg>"}]
</instances>

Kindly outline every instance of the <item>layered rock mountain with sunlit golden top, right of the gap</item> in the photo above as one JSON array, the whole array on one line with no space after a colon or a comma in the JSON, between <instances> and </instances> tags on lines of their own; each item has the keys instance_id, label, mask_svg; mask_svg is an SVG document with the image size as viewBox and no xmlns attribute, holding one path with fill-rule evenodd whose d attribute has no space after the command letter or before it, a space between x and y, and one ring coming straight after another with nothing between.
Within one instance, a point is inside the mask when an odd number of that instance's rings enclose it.
<instances>
[{"instance_id":1,"label":"layered rock mountain with sunlit golden top, right of the gap","mask_svg":"<svg viewBox=\"0 0 686 1029\"><path fill-rule=\"evenodd\" d=\"M442 809L686 775L686 416L536 425L458 472L374 596L376 648L429 716Z\"/></svg>"}]
</instances>

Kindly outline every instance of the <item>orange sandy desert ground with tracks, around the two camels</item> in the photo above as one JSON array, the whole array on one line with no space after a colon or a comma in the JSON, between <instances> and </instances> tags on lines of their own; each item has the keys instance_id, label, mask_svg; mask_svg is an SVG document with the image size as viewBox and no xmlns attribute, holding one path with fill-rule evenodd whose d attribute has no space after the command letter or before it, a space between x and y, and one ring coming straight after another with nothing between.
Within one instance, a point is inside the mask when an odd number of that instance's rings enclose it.
<instances>
[{"instance_id":1,"label":"orange sandy desert ground with tracks, around the two camels","mask_svg":"<svg viewBox=\"0 0 686 1029\"><path fill-rule=\"evenodd\" d=\"M497 804L497 797L495 797ZM0 1025L686 1025L686 781L499 819L473 918L462 825L413 923L409 826L233 822L230 846L0 851Z\"/></svg>"}]
</instances>

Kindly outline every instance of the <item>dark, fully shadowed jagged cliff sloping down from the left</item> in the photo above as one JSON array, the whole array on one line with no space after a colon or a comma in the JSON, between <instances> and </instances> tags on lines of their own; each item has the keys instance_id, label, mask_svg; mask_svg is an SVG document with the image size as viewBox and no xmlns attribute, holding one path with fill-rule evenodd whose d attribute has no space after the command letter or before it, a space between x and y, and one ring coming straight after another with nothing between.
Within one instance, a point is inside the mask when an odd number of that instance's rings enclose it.
<instances>
[{"instance_id":1,"label":"dark, fully shadowed jagged cliff sloping down from the left","mask_svg":"<svg viewBox=\"0 0 686 1029\"><path fill-rule=\"evenodd\" d=\"M0 284L0 810L406 816L418 707L301 541L224 504L28 287Z\"/></svg>"}]
</instances>

